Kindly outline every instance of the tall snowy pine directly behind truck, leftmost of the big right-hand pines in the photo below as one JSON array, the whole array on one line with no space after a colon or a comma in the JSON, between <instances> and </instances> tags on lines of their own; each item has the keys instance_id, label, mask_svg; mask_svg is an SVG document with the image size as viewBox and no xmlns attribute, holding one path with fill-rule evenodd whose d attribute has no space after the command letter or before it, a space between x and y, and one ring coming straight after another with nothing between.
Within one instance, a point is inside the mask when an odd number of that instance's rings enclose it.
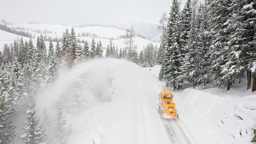
<instances>
[{"instance_id":1,"label":"tall snowy pine directly behind truck, leftmost of the big right-hand pines","mask_svg":"<svg viewBox=\"0 0 256 144\"><path fill-rule=\"evenodd\" d=\"M166 77L166 86L182 86L180 66L183 59L184 48L180 45L180 3L178 0L172 1L172 7L165 34L165 51L164 63L162 67Z\"/></svg>"}]
</instances>

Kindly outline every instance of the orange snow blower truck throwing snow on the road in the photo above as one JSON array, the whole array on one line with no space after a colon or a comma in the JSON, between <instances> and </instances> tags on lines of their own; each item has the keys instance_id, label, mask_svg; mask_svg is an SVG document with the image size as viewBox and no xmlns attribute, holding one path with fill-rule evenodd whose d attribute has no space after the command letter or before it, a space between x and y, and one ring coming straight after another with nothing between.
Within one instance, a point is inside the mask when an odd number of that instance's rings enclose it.
<instances>
[{"instance_id":1,"label":"orange snow blower truck throwing snow on the road","mask_svg":"<svg viewBox=\"0 0 256 144\"><path fill-rule=\"evenodd\" d=\"M167 91L164 86L162 86L162 88L164 90L158 94L156 109L162 118L176 119L178 114L175 103L173 102L173 93L172 91Z\"/></svg>"}]
</instances>

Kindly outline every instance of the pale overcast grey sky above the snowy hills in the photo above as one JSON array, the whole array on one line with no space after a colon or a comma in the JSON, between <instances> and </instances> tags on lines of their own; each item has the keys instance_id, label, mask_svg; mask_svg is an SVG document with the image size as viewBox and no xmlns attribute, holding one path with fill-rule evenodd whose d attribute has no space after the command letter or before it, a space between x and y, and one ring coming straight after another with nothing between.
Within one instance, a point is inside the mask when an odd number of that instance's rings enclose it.
<instances>
[{"instance_id":1,"label":"pale overcast grey sky above the snowy hills","mask_svg":"<svg viewBox=\"0 0 256 144\"><path fill-rule=\"evenodd\" d=\"M186 0L182 0L182 7ZM1 0L0 19L20 24L28 21L83 24L158 23L169 13L172 0Z\"/></svg>"}]
</instances>

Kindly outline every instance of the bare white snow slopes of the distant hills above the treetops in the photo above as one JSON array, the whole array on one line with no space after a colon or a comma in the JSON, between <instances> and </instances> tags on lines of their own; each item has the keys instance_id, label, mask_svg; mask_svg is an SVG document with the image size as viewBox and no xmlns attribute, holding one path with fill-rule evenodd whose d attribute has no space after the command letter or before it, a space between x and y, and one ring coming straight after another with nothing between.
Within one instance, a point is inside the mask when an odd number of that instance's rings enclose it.
<instances>
[{"instance_id":1,"label":"bare white snow slopes of the distant hills above the treetops","mask_svg":"<svg viewBox=\"0 0 256 144\"><path fill-rule=\"evenodd\" d=\"M38 25L32 25L32 24L24 24L24 25L19 25L19 26L34 26L34 28L39 28L39 29L42 29L42 28L49 28L47 30L52 30L52 28L56 28L57 32L55 34L54 30L52 34L47 34L48 35L52 35L52 37L55 37L55 35L58 35L58 36L62 36L63 34L63 31L65 30L65 28L71 28L71 27L68 27L68 26L63 26L63 25L60 25L60 28L57 27L57 25L46 25L46 24L38 24ZM39 26L42 26L42 27L39 27ZM104 35L101 35L101 36L106 36L106 37L112 37L112 36L119 36L121 34L124 34L124 31L123 30L120 30L120 29L116 29L116 28L106 28L106 27L84 27L84 28L77 28L77 30L84 30L84 29L89 29L93 32L97 32L96 34L104 34ZM70 30L70 29L69 29ZM76 28L75 28L76 30ZM80 31L80 32L82 32ZM26 32L31 32L31 31L27 31ZM88 32L88 31L87 31ZM37 36L40 36L41 34L40 33L35 33L35 32L31 32L32 35L35 35L35 37ZM77 33L77 31L76 31ZM98 35L99 36L99 35ZM13 41L15 39L20 38L21 36L18 36L18 35L15 35L15 34L12 34L12 33L8 33L8 32L5 32L3 30L0 30L0 51L3 51L3 45L5 43L7 44L11 44L13 43ZM22 36L24 42L25 40L29 40L28 37L24 37ZM80 40L87 40L89 42L89 44L91 43L92 41L92 37L78 37ZM32 39L34 44L36 44L36 39ZM107 47L107 45L109 44L109 39L107 38L99 38L99 37L96 37L95 38L96 42L99 42L101 41L102 42L102 45L103 47ZM115 44L115 46L118 46L118 49L119 48L123 48L124 47L124 39L116 39L116 40L113 40L113 44ZM159 43L155 43L155 42L152 42L152 41L149 41L147 39L143 39L143 38L140 38L140 37L135 37L134 38L134 44L136 44L138 46L138 49L137 51L140 52L140 50L143 49L143 46L144 45L147 45L148 43L152 43L154 46L157 45L157 47L159 47ZM48 46L49 46L49 42L45 41L45 44L46 44L46 47L48 49ZM53 43L53 45L55 46L56 45L56 42ZM83 44L82 44L83 45Z\"/></svg>"}]
</instances>

